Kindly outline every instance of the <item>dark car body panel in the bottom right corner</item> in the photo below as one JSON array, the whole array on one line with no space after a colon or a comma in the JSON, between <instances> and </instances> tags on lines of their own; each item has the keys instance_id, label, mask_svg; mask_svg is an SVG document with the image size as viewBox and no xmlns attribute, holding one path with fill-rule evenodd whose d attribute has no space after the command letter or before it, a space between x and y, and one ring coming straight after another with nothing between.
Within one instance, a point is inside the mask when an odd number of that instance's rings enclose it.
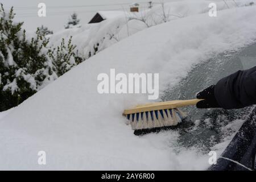
<instances>
[{"instance_id":1,"label":"dark car body panel in the bottom right corner","mask_svg":"<svg viewBox=\"0 0 256 182\"><path fill-rule=\"evenodd\" d=\"M243 171L255 170L256 151L256 107L241 126L232 141L226 147L217 163L209 170Z\"/></svg>"}]
</instances>

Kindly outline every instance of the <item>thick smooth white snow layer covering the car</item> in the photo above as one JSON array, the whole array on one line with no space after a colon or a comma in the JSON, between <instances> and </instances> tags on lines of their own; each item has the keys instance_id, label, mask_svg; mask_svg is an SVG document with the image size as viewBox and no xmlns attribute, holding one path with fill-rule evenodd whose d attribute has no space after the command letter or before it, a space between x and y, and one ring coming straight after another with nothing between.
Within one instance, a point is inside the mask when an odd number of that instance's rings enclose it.
<instances>
[{"instance_id":1,"label":"thick smooth white snow layer covering the car","mask_svg":"<svg viewBox=\"0 0 256 182\"><path fill-rule=\"evenodd\" d=\"M193 65L255 42L255 11L250 6L218 12L216 18L172 20L84 61L0 121L0 169L206 169L209 156L197 148L176 152L176 131L133 135L122 111L148 102L147 95L98 94L97 76L111 68L159 73L163 91ZM81 30L74 32L84 38ZM46 165L38 165L39 151L46 151Z\"/></svg>"}]
</instances>

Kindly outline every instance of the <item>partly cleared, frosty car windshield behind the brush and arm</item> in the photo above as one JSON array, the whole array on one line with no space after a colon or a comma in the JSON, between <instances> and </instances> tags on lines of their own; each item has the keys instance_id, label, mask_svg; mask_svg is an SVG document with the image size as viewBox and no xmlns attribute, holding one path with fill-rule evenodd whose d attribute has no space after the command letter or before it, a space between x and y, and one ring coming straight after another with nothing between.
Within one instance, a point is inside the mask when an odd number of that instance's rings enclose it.
<instances>
[{"instance_id":1,"label":"partly cleared, frosty car windshield behind the brush and arm","mask_svg":"<svg viewBox=\"0 0 256 182\"><path fill-rule=\"evenodd\" d=\"M256 44L242 48L240 51L222 53L222 55L196 65L179 85L164 92L162 100L195 98L197 92L216 84L222 77L255 65ZM195 106L190 106L184 107L183 111L186 111L189 117L184 121L186 125L179 129L177 148L193 147L200 152L208 153L210 150L222 152L225 149L249 115L251 107L224 110L197 109Z\"/></svg>"}]
</instances>

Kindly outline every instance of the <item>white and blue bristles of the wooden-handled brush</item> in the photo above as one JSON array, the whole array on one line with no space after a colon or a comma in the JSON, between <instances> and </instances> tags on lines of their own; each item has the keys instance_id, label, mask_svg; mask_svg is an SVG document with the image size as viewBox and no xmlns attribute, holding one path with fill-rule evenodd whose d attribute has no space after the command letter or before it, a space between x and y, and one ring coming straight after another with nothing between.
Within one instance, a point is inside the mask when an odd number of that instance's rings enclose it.
<instances>
[{"instance_id":1,"label":"white and blue bristles of the wooden-handled brush","mask_svg":"<svg viewBox=\"0 0 256 182\"><path fill-rule=\"evenodd\" d=\"M152 129L164 126L176 126L186 115L179 109L164 109L127 114L133 130Z\"/></svg>"}]
</instances>

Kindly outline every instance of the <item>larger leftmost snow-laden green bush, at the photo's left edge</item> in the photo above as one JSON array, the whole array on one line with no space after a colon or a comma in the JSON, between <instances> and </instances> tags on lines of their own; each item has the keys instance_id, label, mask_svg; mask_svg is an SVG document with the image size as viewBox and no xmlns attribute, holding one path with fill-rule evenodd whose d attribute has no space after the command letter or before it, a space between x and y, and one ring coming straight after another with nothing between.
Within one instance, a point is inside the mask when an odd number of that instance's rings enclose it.
<instances>
[{"instance_id":1,"label":"larger leftmost snow-laden green bush, at the photo's left edge","mask_svg":"<svg viewBox=\"0 0 256 182\"><path fill-rule=\"evenodd\" d=\"M46 56L40 54L47 39L38 36L26 40L23 23L14 23L13 9L6 14L0 9L0 110L6 110L26 100L47 77Z\"/></svg>"}]
</instances>

